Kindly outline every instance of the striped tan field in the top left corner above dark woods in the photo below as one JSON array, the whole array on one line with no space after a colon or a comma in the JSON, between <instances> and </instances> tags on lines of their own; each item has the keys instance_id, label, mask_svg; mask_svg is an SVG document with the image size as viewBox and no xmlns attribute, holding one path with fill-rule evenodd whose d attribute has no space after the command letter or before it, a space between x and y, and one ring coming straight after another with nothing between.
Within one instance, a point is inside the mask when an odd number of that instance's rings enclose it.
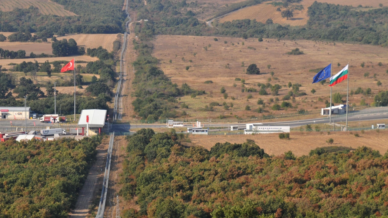
<instances>
[{"instance_id":1,"label":"striped tan field in the top left corner above dark woods","mask_svg":"<svg viewBox=\"0 0 388 218\"><path fill-rule=\"evenodd\" d=\"M27 9L31 5L37 7L45 15L76 16L73 12L65 10L63 5L48 0L2 0L0 1L0 11L12 11L16 8Z\"/></svg>"}]
</instances>

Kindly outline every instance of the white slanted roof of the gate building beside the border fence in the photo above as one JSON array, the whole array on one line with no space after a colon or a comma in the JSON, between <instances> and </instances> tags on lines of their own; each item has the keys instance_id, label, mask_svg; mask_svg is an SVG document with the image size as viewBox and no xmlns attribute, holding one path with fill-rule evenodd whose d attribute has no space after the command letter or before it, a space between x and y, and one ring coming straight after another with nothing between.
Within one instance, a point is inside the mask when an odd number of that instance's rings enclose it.
<instances>
[{"instance_id":1,"label":"white slanted roof of the gate building beside the border fence","mask_svg":"<svg viewBox=\"0 0 388 218\"><path fill-rule=\"evenodd\" d=\"M80 120L78 121L78 126L86 127L86 116L89 115L89 127L100 128L104 126L106 120L106 110L82 110Z\"/></svg>"}]
</instances>

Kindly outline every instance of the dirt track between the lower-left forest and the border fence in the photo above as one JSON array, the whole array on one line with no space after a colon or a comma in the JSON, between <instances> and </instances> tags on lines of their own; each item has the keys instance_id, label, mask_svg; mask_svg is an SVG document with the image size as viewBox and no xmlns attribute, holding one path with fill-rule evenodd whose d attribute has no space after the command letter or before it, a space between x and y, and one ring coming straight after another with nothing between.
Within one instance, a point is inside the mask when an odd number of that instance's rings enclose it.
<instances>
[{"instance_id":1,"label":"dirt track between the lower-left forest and the border fence","mask_svg":"<svg viewBox=\"0 0 388 218\"><path fill-rule=\"evenodd\" d=\"M109 137L104 138L97 147L97 161L90 168L85 184L78 196L75 209L69 213L69 218L85 218L89 211L89 206L96 196L101 194L102 180L106 163L106 153L109 146Z\"/></svg>"}]
</instances>

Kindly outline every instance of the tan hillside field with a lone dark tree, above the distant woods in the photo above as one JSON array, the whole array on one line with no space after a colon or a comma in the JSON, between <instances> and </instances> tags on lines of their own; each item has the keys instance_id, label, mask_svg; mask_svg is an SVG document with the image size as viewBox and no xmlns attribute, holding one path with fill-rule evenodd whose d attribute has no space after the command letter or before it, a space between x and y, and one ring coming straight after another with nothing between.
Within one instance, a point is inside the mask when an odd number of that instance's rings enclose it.
<instances>
[{"instance_id":1,"label":"tan hillside field with a lone dark tree, above the distant woods","mask_svg":"<svg viewBox=\"0 0 388 218\"><path fill-rule=\"evenodd\" d=\"M276 11L277 7L268 5L269 2L263 2L258 5L246 7L236 12L232 12L229 15L222 17L219 22L233 21L239 19L256 19L258 22L267 21L272 19L274 23L289 24L291 26L303 26L307 23L307 7L303 10L295 10L294 17L291 19L283 18L280 11ZM304 5L303 5L304 6Z\"/></svg>"}]
</instances>

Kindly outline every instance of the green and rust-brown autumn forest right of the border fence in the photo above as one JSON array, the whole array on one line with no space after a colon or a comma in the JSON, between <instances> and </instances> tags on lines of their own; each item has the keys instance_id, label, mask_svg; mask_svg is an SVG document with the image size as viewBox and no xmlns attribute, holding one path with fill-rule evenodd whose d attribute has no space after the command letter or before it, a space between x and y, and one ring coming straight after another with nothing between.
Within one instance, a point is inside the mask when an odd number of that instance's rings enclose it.
<instances>
[{"instance_id":1,"label":"green and rust-brown autumn forest right of the border fence","mask_svg":"<svg viewBox=\"0 0 388 218\"><path fill-rule=\"evenodd\" d=\"M270 157L253 141L184 147L182 134L142 129L128 137L120 194L140 210L124 218L386 217L388 152Z\"/></svg>"}]
</instances>

